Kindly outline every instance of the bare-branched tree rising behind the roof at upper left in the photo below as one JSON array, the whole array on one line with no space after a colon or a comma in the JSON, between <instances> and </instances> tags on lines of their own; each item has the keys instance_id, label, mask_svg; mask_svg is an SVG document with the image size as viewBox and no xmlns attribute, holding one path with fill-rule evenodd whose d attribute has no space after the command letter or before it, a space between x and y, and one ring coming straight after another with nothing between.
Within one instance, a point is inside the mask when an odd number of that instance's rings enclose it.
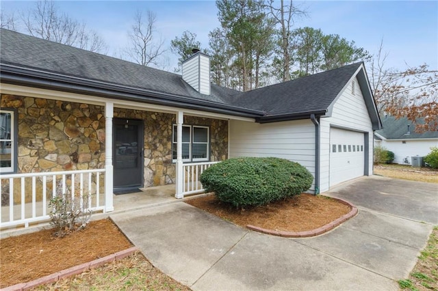
<instances>
[{"instance_id":1,"label":"bare-branched tree rising behind the roof at upper left","mask_svg":"<svg viewBox=\"0 0 438 291\"><path fill-rule=\"evenodd\" d=\"M60 12L53 1L38 1L33 10L22 14L23 23L31 36L60 42L69 46L106 53L104 40L86 27L85 23Z\"/></svg>"}]
</instances>

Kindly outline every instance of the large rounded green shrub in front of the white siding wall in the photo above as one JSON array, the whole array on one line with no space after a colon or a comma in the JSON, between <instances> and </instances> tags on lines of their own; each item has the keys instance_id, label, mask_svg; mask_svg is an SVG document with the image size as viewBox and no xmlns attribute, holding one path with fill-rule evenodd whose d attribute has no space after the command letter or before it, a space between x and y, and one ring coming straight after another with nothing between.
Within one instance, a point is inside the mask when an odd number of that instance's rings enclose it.
<instances>
[{"instance_id":1,"label":"large rounded green shrub in front of the white siding wall","mask_svg":"<svg viewBox=\"0 0 438 291\"><path fill-rule=\"evenodd\" d=\"M282 158L230 158L201 175L205 191L236 208L298 195L307 191L312 181L305 167Z\"/></svg>"}]
</instances>

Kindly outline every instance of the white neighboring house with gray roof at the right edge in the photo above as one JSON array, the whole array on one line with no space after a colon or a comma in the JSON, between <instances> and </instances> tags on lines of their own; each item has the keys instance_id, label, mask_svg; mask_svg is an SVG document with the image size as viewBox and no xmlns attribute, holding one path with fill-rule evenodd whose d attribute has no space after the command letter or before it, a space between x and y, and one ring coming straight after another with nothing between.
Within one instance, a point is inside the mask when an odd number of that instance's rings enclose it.
<instances>
[{"instance_id":1,"label":"white neighboring house with gray roof at the right edge","mask_svg":"<svg viewBox=\"0 0 438 291\"><path fill-rule=\"evenodd\" d=\"M438 147L438 131L417 133L407 117L385 115L382 124L383 128L374 133L374 145L394 152L394 163L412 165L412 156L426 156L430 148Z\"/></svg>"}]
</instances>

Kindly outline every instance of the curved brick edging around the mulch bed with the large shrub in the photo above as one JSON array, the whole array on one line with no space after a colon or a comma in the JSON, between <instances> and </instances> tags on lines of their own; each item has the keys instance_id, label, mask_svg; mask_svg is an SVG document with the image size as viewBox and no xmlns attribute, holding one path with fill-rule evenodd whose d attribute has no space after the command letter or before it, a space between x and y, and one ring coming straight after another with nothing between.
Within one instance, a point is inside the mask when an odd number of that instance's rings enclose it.
<instances>
[{"instance_id":1,"label":"curved brick edging around the mulch bed with the large shrub","mask_svg":"<svg viewBox=\"0 0 438 291\"><path fill-rule=\"evenodd\" d=\"M330 198L335 199L342 204L350 206L351 210L347 214L342 215L342 217L339 217L338 219L335 219L331 223L327 223L322 227L318 227L315 230L307 230L305 232L283 232L278 230L268 230L266 228L258 227L255 225L246 225L246 228L248 228L249 230L253 230L255 232L261 232L262 234L270 234L272 236L283 236L284 238L309 238L311 236L320 236L321 234L325 234L326 232L333 230L335 227L341 225L345 221L348 221L348 219L355 217L355 215L358 212L357 207L350 204L350 202L346 202L345 200L335 197L330 197Z\"/></svg>"}]
</instances>

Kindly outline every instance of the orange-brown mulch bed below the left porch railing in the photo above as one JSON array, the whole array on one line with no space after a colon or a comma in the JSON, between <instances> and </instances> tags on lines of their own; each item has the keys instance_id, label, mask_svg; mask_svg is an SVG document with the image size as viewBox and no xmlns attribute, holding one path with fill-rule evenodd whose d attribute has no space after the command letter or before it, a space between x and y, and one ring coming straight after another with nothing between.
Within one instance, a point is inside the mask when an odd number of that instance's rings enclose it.
<instances>
[{"instance_id":1,"label":"orange-brown mulch bed below the left porch railing","mask_svg":"<svg viewBox=\"0 0 438 291\"><path fill-rule=\"evenodd\" d=\"M24 283L123 251L133 245L109 219L64 238L42 230L0 240L0 288ZM105 235L103 235L105 234Z\"/></svg>"}]
</instances>

